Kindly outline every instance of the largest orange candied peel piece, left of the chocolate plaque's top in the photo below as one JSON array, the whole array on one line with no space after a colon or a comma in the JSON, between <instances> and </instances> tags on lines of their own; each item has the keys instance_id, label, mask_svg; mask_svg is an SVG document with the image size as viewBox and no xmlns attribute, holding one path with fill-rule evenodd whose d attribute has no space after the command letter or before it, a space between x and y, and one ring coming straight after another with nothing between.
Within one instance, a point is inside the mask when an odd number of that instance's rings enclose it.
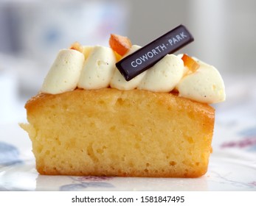
<instances>
[{"instance_id":1,"label":"largest orange candied peel piece, left of the chocolate plaque's top","mask_svg":"<svg viewBox=\"0 0 256 206\"><path fill-rule=\"evenodd\" d=\"M116 51L117 54L123 56L129 49L131 49L131 40L127 37L111 34L109 38L109 46Z\"/></svg>"}]
</instances>

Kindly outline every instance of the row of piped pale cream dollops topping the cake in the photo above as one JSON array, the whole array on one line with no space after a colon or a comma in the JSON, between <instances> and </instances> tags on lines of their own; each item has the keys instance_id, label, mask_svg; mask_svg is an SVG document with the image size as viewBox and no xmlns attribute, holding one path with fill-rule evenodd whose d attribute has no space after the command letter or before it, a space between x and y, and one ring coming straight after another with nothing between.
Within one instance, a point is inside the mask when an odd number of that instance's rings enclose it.
<instances>
[{"instance_id":1,"label":"row of piped pale cream dollops topping the cake","mask_svg":"<svg viewBox=\"0 0 256 206\"><path fill-rule=\"evenodd\" d=\"M151 90L153 92L179 91L179 96L207 104L223 102L226 98L224 81L212 65L200 65L196 71L187 72L182 55L167 54L147 71L126 81L116 68L117 57L111 48L83 47L83 52L62 49L44 79L42 93L64 93L83 89L117 88L119 90ZM125 56L140 49L132 46ZM125 57L124 56L124 57Z\"/></svg>"}]
</instances>

